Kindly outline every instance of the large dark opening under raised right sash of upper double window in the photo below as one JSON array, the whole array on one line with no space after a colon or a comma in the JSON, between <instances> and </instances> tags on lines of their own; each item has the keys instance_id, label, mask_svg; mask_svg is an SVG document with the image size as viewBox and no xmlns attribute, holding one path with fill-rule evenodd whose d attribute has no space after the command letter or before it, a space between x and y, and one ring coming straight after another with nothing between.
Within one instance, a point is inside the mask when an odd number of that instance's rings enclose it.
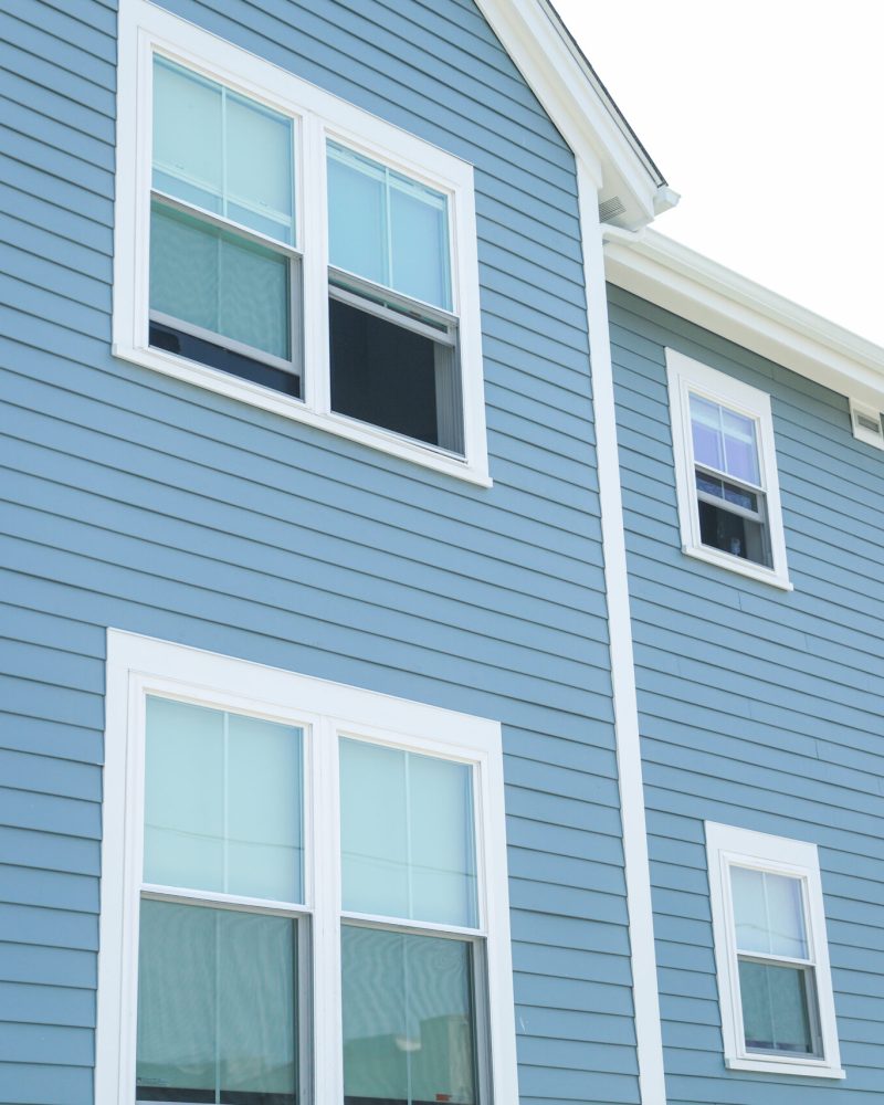
<instances>
[{"instance_id":1,"label":"large dark opening under raised right sash of upper double window","mask_svg":"<svg viewBox=\"0 0 884 1105\"><path fill-rule=\"evenodd\" d=\"M462 452L452 346L334 297L329 336L333 410Z\"/></svg>"}]
</instances>

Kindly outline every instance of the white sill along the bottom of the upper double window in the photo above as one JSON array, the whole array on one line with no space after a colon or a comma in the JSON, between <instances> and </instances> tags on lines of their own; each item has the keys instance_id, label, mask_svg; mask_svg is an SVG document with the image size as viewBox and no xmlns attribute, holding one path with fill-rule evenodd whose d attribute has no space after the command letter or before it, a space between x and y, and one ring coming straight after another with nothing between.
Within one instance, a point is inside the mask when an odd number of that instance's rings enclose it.
<instances>
[{"instance_id":1,"label":"white sill along the bottom of the upper double window","mask_svg":"<svg viewBox=\"0 0 884 1105\"><path fill-rule=\"evenodd\" d=\"M485 469L477 465L470 465L466 461L457 460L455 456L448 456L436 452L432 448L424 448L418 443L408 441L387 433L385 430L375 429L360 422L351 421L341 415L320 413L311 410L297 399L290 399L287 396L277 394L260 385L251 383L249 380L239 379L228 372L210 368L207 365L199 365L196 361L183 360L164 354L158 349L139 348L133 346L114 345L112 352L122 360L131 361L143 368L150 368L154 371L171 376L185 383L192 383L196 387L214 391L217 394L227 396L239 402L249 403L261 410L271 411L283 418L292 419L295 422L303 422L306 425L326 430L339 438L355 441L362 445L368 445L379 452L390 456L398 456L400 460L410 461L424 469L434 472L442 472L445 475L454 476L466 483L478 487L491 487L493 481Z\"/></svg>"}]
</instances>

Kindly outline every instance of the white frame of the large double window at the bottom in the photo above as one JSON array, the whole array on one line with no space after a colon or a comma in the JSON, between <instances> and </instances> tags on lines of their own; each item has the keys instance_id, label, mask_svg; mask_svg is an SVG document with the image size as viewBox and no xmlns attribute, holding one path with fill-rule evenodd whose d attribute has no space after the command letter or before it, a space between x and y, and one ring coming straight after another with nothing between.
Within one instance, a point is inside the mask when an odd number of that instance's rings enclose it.
<instances>
[{"instance_id":1,"label":"white frame of the large double window at the bottom","mask_svg":"<svg viewBox=\"0 0 884 1105\"><path fill-rule=\"evenodd\" d=\"M344 1099L338 737L380 741L473 767L480 918L476 929L464 933L485 945L487 1000L477 994L477 1043L481 1052L483 1039L487 1042L493 1102L518 1101L499 723L113 629L107 632L106 674L96 1105L135 1101L148 695L304 730L305 902L303 908L286 912L309 918L313 986L302 1069L313 1088L303 1099L314 1105L339 1105ZM200 894L212 897L223 901L224 895ZM402 920L385 919L383 925L415 933L432 928ZM481 1012L484 1024L478 1023ZM481 1054L478 1062L481 1066Z\"/></svg>"}]
</instances>

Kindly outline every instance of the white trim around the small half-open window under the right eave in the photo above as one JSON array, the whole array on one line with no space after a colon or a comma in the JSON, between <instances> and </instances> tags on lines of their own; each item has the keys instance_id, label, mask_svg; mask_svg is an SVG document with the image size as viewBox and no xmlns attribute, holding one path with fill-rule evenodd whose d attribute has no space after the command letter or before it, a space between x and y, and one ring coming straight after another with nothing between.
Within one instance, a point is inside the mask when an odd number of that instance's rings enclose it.
<instances>
[{"instance_id":1,"label":"white trim around the small half-open window under the right eave","mask_svg":"<svg viewBox=\"0 0 884 1105\"><path fill-rule=\"evenodd\" d=\"M682 533L682 551L687 556L714 564L719 568L758 579L774 587L791 591L786 562L786 536L782 527L777 452L774 444L774 417L770 396L751 388L732 376L708 365L693 360L676 349L666 349L672 444L675 457L675 491L678 501L678 520ZM694 481L694 442L691 433L691 394L701 394L713 402L750 418L758 430L758 452L761 481L767 503L767 525L774 565L767 568L729 552L709 548L699 536L699 514Z\"/></svg>"}]
</instances>

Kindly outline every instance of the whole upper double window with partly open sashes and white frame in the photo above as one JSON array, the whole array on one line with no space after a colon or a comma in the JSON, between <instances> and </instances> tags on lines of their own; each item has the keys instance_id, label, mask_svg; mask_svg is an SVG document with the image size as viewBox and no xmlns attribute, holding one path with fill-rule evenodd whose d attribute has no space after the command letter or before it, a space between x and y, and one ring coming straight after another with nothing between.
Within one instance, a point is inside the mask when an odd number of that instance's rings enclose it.
<instances>
[{"instance_id":1,"label":"whole upper double window with partly open sashes and white frame","mask_svg":"<svg viewBox=\"0 0 884 1105\"><path fill-rule=\"evenodd\" d=\"M120 9L114 351L487 483L472 167Z\"/></svg>"}]
</instances>

